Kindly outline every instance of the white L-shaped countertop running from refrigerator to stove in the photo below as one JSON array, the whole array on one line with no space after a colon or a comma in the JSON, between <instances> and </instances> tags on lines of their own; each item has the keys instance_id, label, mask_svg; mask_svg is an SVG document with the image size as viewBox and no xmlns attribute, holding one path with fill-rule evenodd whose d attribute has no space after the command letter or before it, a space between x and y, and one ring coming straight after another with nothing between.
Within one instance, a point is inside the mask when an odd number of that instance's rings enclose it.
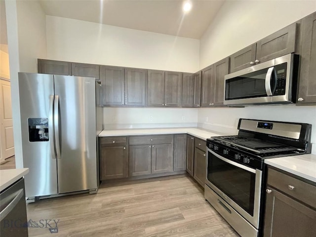
<instances>
[{"instance_id":1,"label":"white L-shaped countertop running from refrigerator to stove","mask_svg":"<svg viewBox=\"0 0 316 237\"><path fill-rule=\"evenodd\" d=\"M124 130L103 130L99 137L111 136L133 136L133 135L161 135L161 134L181 134L187 133L206 141L206 138L213 136L227 135L225 133L214 132L194 127L177 127L177 128L149 128L149 129L124 129ZM232 135L232 134L230 134Z\"/></svg>"}]
</instances>

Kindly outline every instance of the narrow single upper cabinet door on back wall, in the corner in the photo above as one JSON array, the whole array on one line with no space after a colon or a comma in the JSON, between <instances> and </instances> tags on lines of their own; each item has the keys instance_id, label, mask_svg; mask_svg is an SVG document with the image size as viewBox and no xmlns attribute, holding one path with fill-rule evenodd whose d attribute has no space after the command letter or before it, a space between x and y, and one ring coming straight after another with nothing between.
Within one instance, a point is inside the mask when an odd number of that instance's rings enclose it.
<instances>
[{"instance_id":1,"label":"narrow single upper cabinet door on back wall, in the corner","mask_svg":"<svg viewBox=\"0 0 316 237\"><path fill-rule=\"evenodd\" d=\"M182 81L182 107L193 107L194 76L191 73L183 74Z\"/></svg>"}]
</instances>

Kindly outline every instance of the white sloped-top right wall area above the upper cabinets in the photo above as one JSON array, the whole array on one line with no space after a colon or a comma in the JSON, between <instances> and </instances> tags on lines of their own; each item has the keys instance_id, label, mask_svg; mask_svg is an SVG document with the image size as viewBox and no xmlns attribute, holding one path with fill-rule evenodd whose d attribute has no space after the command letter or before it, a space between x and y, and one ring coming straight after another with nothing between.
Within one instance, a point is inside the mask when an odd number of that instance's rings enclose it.
<instances>
[{"instance_id":1,"label":"white sloped-top right wall area above the upper cabinets","mask_svg":"<svg viewBox=\"0 0 316 237\"><path fill-rule=\"evenodd\" d=\"M316 1L226 1L200 39L205 68L316 11Z\"/></svg>"}]
</instances>

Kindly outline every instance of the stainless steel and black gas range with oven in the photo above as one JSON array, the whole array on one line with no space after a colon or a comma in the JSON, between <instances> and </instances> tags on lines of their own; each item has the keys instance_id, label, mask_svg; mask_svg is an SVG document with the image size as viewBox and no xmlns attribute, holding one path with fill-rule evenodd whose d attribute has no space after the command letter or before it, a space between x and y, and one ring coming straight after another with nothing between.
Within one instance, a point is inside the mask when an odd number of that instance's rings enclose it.
<instances>
[{"instance_id":1,"label":"stainless steel and black gas range with oven","mask_svg":"<svg viewBox=\"0 0 316 237\"><path fill-rule=\"evenodd\" d=\"M205 199L240 236L262 234L264 159L311 153L311 129L240 118L238 135L207 139Z\"/></svg>"}]
</instances>

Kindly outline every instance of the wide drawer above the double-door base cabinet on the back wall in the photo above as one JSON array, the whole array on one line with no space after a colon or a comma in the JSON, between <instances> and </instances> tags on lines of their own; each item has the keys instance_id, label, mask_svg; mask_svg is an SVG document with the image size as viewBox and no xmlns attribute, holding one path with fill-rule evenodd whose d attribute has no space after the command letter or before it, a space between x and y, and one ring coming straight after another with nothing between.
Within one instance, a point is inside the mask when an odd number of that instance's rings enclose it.
<instances>
[{"instance_id":1,"label":"wide drawer above the double-door base cabinet on the back wall","mask_svg":"<svg viewBox=\"0 0 316 237\"><path fill-rule=\"evenodd\" d=\"M129 137L129 145L150 145L173 143L173 135Z\"/></svg>"}]
</instances>

